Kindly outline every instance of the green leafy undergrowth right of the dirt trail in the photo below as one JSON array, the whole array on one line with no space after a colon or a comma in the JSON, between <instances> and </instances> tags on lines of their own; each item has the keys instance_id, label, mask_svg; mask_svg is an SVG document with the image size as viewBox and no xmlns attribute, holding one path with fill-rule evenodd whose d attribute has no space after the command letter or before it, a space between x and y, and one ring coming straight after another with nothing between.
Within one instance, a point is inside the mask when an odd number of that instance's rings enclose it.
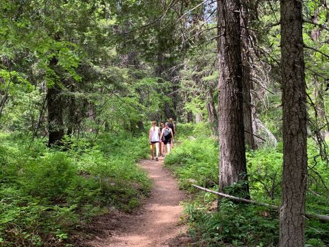
<instances>
[{"instance_id":1,"label":"green leafy undergrowth right of the dirt trail","mask_svg":"<svg viewBox=\"0 0 329 247\"><path fill-rule=\"evenodd\" d=\"M223 199L217 211L217 197L191 187L191 183L218 190L219 145L207 137L207 126L180 126L180 145L165 159L180 181L180 187L193 194L186 202L188 232L195 246L278 246L278 212L264 207ZM201 131L202 130L202 131ZM328 166L308 144L308 193L310 213L328 214ZM280 204L282 145L247 151L249 187L253 200ZM313 158L315 157L315 158ZM239 185L235 185L239 186ZM234 188L233 188L234 189ZM328 246L329 224L306 220L306 246Z\"/></svg>"}]
</instances>

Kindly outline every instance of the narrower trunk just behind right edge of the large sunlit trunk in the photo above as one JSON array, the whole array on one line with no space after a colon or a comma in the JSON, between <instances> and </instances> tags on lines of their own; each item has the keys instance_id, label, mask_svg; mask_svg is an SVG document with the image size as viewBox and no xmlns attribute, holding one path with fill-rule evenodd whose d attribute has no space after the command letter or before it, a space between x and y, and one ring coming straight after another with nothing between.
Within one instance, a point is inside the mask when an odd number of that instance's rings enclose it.
<instances>
[{"instance_id":1,"label":"narrower trunk just behind right edge of the large sunlit trunk","mask_svg":"<svg viewBox=\"0 0 329 247\"><path fill-rule=\"evenodd\" d=\"M250 76L250 53L249 53L249 39L247 32L248 12L247 8L242 7L241 15L241 55L242 55L242 84L243 84L243 125L245 127L245 143L252 150L256 149L254 139L254 130L252 128L252 80Z\"/></svg>"}]
</instances>

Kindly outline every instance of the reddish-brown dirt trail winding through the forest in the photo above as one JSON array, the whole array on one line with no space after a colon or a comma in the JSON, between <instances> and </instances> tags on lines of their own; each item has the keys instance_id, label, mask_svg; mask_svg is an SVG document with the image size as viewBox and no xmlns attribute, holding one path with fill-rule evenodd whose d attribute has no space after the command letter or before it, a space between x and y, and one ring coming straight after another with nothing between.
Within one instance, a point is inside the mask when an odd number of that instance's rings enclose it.
<instances>
[{"instance_id":1,"label":"reddish-brown dirt trail winding through the forest","mask_svg":"<svg viewBox=\"0 0 329 247\"><path fill-rule=\"evenodd\" d=\"M180 224L183 210L180 201L185 198L183 191L178 189L177 181L163 167L163 158L159 161L145 160L140 165L154 180L150 198L138 215L121 215L108 236L97 237L88 242L88 246L188 246L188 238L184 235L186 228Z\"/></svg>"}]
</instances>

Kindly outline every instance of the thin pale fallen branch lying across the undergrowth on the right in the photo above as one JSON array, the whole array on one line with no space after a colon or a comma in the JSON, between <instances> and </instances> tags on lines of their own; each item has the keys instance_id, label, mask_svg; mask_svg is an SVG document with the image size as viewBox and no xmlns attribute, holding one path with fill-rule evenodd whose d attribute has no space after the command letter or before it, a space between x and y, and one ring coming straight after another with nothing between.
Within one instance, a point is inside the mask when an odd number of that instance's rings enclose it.
<instances>
[{"instance_id":1,"label":"thin pale fallen branch lying across the undergrowth on the right","mask_svg":"<svg viewBox=\"0 0 329 247\"><path fill-rule=\"evenodd\" d=\"M279 206L276 206L276 205L273 205L273 204L267 204L267 203L264 203L264 202L256 202L256 201L253 201L253 200L238 198L236 196L230 196L226 193L220 193L220 192L217 192L217 191L212 191L211 189L206 189L206 188L198 186L198 185L192 185L192 186L197 188L197 189L202 189L204 191L207 191L209 193L213 193L213 194L218 195L218 196L223 196L225 198L230 198L232 200L236 200L238 202L245 202L245 203L254 204L254 205L258 205L258 206L269 207L271 209L279 209ZM305 215L307 217L313 217L313 218L315 218L317 220L321 220L323 222L329 222L329 216L328 215L317 215L317 214L313 214L313 213L306 213Z\"/></svg>"}]
</instances>

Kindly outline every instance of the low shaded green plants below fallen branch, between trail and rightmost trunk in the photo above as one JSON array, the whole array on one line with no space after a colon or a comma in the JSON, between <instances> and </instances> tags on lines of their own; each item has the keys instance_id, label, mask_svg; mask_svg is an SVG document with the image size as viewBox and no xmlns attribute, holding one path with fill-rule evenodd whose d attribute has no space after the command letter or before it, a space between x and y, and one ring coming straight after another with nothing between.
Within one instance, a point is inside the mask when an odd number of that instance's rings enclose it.
<instances>
[{"instance_id":1,"label":"low shaded green plants below fallen branch, between trail and rightmost trunk","mask_svg":"<svg viewBox=\"0 0 329 247\"><path fill-rule=\"evenodd\" d=\"M188 204L189 233L197 246L277 246L278 215L260 207L223 199L219 211L209 205Z\"/></svg>"}]
</instances>

